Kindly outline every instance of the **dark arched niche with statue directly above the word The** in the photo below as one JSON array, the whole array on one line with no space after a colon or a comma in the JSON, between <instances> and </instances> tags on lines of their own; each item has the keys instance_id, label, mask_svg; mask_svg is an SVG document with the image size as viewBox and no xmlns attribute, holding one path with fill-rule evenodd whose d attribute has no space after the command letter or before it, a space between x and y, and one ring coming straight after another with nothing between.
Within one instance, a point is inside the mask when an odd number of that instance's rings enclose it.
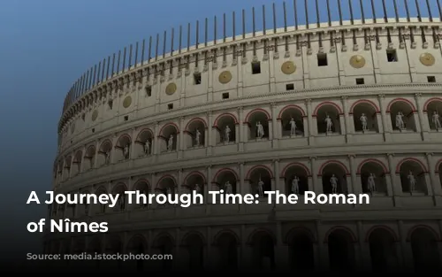
<instances>
[{"instance_id":1,"label":"dark arched niche with statue directly above the word The","mask_svg":"<svg viewBox=\"0 0 442 277\"><path fill-rule=\"evenodd\" d=\"M284 171L286 194L304 195L309 190L309 172L301 165L288 165Z\"/></svg>"}]
</instances>

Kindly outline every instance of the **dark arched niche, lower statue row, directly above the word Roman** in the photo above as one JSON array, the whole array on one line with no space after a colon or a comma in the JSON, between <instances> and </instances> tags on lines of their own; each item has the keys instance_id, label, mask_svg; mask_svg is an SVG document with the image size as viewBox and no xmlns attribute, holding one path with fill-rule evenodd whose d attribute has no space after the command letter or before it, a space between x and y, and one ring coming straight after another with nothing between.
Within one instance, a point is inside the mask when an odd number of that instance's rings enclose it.
<instances>
[{"instance_id":1,"label":"dark arched niche, lower statue row, directly above the word Roman","mask_svg":"<svg viewBox=\"0 0 442 277\"><path fill-rule=\"evenodd\" d=\"M347 194L347 168L331 162L325 165L321 174L324 194Z\"/></svg>"}]
</instances>

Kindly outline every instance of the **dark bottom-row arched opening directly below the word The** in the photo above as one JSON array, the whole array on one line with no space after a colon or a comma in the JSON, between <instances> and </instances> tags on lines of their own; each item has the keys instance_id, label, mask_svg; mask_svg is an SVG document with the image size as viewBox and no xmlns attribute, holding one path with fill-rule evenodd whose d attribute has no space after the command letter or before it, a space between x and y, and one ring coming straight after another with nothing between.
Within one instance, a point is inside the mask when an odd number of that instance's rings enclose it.
<instances>
[{"instance_id":1,"label":"dark bottom-row arched opening directly below the word The","mask_svg":"<svg viewBox=\"0 0 442 277\"><path fill-rule=\"evenodd\" d=\"M288 245L290 265L293 271L306 272L315 269L313 241L306 231L293 230Z\"/></svg>"}]
</instances>

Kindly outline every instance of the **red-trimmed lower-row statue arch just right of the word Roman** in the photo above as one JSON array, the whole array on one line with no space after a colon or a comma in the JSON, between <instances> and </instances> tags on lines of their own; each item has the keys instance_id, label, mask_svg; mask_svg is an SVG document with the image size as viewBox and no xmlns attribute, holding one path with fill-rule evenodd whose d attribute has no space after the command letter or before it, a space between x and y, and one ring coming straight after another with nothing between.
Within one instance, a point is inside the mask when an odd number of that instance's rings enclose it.
<instances>
[{"instance_id":1,"label":"red-trimmed lower-row statue arch just right of the word Roman","mask_svg":"<svg viewBox=\"0 0 442 277\"><path fill-rule=\"evenodd\" d=\"M376 158L367 158L359 164L357 171L357 174L361 176L361 185L362 185L362 192L363 193L371 193L371 194L387 194L387 179L386 174L388 174L388 169L384 165L383 162ZM370 181L369 179L370 174L374 174L374 182L375 187L370 187ZM370 189L373 189L371 191Z\"/></svg>"}]
</instances>

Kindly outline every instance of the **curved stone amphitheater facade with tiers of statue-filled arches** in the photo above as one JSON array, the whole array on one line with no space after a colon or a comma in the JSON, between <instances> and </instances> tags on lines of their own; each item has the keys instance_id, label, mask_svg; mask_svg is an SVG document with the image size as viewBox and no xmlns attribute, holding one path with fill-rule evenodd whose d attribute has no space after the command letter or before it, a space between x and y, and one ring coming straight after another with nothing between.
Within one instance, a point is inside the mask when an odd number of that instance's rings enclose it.
<instances>
[{"instance_id":1,"label":"curved stone amphitheater facade with tiers of statue-filled arches","mask_svg":"<svg viewBox=\"0 0 442 277\"><path fill-rule=\"evenodd\" d=\"M54 190L182 194L198 185L206 204L51 206L52 219L107 221L110 231L48 233L46 253L98 255L81 263L106 269L440 268L440 22L275 27L129 61L106 78L103 65L101 80L98 69L96 83L80 81L66 98ZM370 193L370 204L208 196L226 182L255 194L259 180L289 194L296 176L302 199L330 194L333 174L338 193Z\"/></svg>"}]
</instances>

